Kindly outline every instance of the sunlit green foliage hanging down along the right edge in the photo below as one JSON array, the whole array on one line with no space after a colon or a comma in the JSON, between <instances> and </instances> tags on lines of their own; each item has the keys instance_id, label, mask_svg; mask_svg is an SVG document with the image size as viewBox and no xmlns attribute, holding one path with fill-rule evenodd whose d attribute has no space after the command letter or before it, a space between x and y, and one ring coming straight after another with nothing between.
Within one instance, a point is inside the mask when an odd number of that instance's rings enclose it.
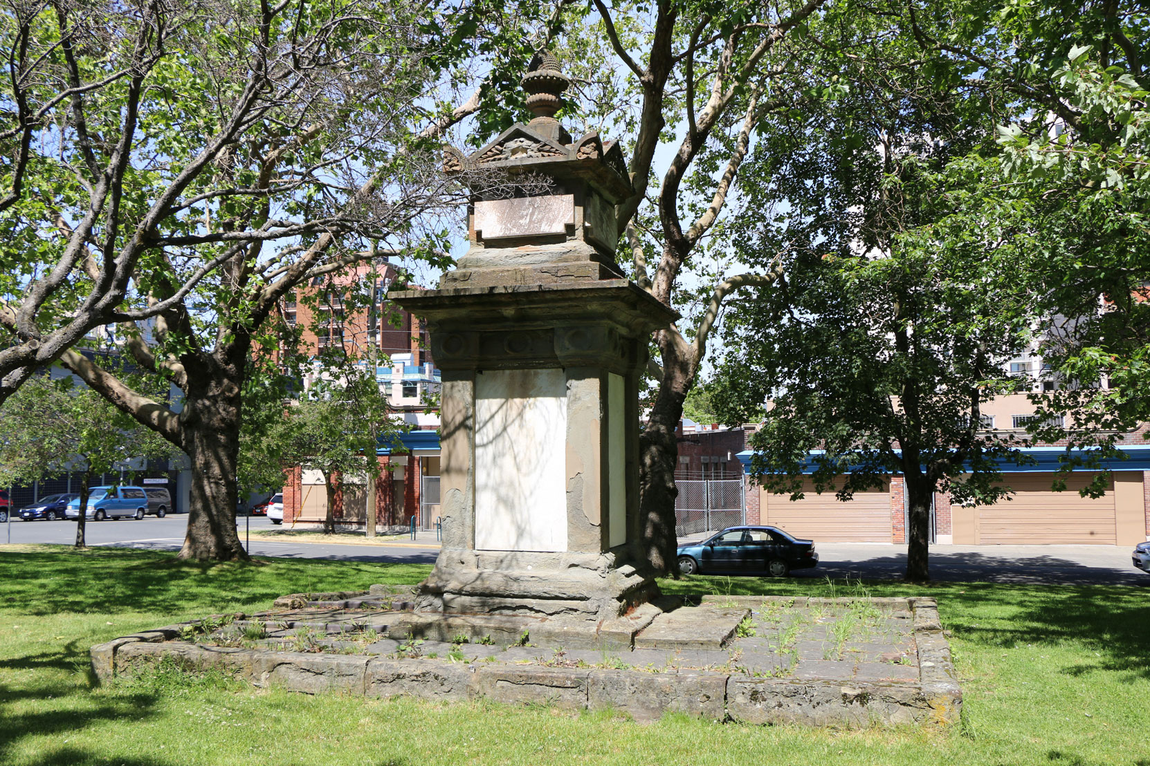
<instances>
[{"instance_id":1,"label":"sunlit green foliage hanging down along the right edge","mask_svg":"<svg viewBox=\"0 0 1150 766\"><path fill-rule=\"evenodd\" d=\"M1033 397L1051 416L1034 434L1102 446L1101 457L1150 420L1150 10L1122 0L940 5L980 13L945 33L915 29L923 51L1009 96L992 110L997 152L954 173L981 193L952 215L1009 215L1033 238L1023 278L1041 287L1041 351L1058 386ZM1067 454L1065 467L1076 463Z\"/></svg>"}]
</instances>

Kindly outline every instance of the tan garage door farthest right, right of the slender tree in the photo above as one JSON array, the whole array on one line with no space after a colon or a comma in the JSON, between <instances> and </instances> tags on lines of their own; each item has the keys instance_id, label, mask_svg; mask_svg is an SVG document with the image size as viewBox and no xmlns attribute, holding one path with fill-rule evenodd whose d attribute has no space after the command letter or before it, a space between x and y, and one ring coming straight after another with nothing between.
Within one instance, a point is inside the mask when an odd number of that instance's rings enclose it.
<instances>
[{"instance_id":1,"label":"tan garage door farthest right, right of the slender tree","mask_svg":"<svg viewBox=\"0 0 1150 766\"><path fill-rule=\"evenodd\" d=\"M1053 477L1035 473L1012 477L1006 482L1014 495L1010 501L983 505L979 511L979 541L990 544L1097 544L1113 546L1113 483L1098 498L1082 497L1078 490L1090 477L1073 477L1065 492L1052 492Z\"/></svg>"}]
</instances>

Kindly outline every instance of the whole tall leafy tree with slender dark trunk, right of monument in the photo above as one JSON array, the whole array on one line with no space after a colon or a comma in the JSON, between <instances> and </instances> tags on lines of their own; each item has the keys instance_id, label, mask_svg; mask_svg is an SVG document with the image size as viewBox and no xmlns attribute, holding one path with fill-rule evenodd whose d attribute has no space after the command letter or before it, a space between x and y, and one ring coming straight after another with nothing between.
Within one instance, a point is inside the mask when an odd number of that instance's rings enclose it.
<instances>
[{"instance_id":1,"label":"whole tall leafy tree with slender dark trunk, right of monument","mask_svg":"<svg viewBox=\"0 0 1150 766\"><path fill-rule=\"evenodd\" d=\"M800 493L813 470L848 498L904 474L907 578L926 580L933 493L994 502L997 461L1018 458L980 405L1018 389L1004 365L1038 315L1018 270L1034 232L1006 209L961 215L986 191L969 157L998 152L1003 86L923 55L945 15L911 21L842 2L799 42L807 95L759 125L739 178L767 212L729 227L737 260L783 276L728 314L708 393L727 421L765 418L752 469L770 489Z\"/></svg>"}]
</instances>

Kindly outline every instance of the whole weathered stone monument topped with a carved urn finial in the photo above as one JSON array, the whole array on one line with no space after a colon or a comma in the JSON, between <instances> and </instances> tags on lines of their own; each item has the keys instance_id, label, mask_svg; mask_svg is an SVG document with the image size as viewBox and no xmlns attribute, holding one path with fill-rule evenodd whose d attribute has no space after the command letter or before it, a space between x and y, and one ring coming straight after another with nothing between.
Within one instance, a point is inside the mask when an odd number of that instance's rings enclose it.
<instances>
[{"instance_id":1,"label":"whole weathered stone monument topped with a carved urn finial","mask_svg":"<svg viewBox=\"0 0 1150 766\"><path fill-rule=\"evenodd\" d=\"M445 149L480 179L470 248L437 289L390 295L427 318L443 371L443 549L417 611L601 624L658 595L637 546L638 385L677 315L616 264L627 164L554 118L568 83L537 57L535 118Z\"/></svg>"}]
</instances>

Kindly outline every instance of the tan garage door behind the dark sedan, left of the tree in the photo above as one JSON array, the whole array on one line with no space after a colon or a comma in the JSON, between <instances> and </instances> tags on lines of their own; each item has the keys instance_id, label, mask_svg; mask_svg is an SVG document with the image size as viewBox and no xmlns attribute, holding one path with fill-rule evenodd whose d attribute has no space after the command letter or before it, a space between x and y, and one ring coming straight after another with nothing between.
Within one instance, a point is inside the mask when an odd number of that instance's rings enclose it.
<instances>
[{"instance_id":1,"label":"tan garage door behind the dark sedan, left of the tree","mask_svg":"<svg viewBox=\"0 0 1150 766\"><path fill-rule=\"evenodd\" d=\"M759 508L766 509L764 524L781 527L796 537L819 542L890 542L890 486L881 490L857 492L854 500L842 502L834 492L815 494L807 485L803 500L766 492Z\"/></svg>"}]
</instances>

